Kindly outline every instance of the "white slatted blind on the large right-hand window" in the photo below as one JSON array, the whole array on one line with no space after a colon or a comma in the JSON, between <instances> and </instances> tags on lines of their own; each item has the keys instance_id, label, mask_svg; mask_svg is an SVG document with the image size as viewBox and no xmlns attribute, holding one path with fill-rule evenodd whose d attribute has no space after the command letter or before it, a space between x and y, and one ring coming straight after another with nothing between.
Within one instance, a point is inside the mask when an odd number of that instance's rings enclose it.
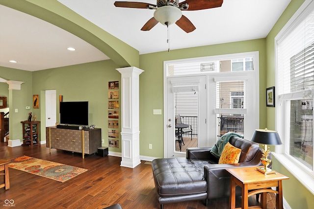
<instances>
[{"instance_id":1,"label":"white slatted blind on the large right-hand window","mask_svg":"<svg viewBox=\"0 0 314 209\"><path fill-rule=\"evenodd\" d=\"M314 12L277 42L278 94L314 88Z\"/></svg>"}]
</instances>

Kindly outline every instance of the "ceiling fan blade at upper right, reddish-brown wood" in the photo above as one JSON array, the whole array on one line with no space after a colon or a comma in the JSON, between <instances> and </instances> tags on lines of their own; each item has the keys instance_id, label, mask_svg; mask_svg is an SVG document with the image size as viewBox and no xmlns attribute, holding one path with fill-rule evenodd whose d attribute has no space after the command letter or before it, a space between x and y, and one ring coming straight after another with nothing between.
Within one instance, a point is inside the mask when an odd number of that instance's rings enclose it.
<instances>
[{"instance_id":1,"label":"ceiling fan blade at upper right, reddish-brown wood","mask_svg":"<svg viewBox=\"0 0 314 209\"><path fill-rule=\"evenodd\" d=\"M222 2L223 0L185 0L179 3L179 6L181 6L183 3L187 3L187 10L192 11L220 7L222 5Z\"/></svg>"}]
</instances>

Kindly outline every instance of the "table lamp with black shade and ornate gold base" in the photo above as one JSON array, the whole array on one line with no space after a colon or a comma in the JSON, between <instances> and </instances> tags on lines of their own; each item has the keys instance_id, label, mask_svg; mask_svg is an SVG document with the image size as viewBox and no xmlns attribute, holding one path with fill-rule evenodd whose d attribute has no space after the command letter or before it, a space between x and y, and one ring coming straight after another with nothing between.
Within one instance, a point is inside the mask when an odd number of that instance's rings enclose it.
<instances>
[{"instance_id":1,"label":"table lamp with black shade and ornate gold base","mask_svg":"<svg viewBox=\"0 0 314 209\"><path fill-rule=\"evenodd\" d=\"M282 144L279 134L277 131L271 131L268 130L267 128L265 129L257 129L255 130L252 141L259 143L259 144L264 144L265 149L262 149L262 164L264 167L258 167L257 170L262 172L263 174L271 174L275 173L274 170L268 168L267 166L271 163L271 159L268 159L267 157L270 154L270 150L267 148L267 145L279 145Z\"/></svg>"}]
</instances>

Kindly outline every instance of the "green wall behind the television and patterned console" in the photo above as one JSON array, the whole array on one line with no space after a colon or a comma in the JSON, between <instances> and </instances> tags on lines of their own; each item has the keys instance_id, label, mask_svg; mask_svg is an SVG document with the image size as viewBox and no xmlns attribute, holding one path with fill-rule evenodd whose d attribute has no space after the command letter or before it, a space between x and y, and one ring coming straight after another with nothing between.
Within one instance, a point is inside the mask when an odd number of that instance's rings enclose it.
<instances>
[{"instance_id":1,"label":"green wall behind the television and patterned console","mask_svg":"<svg viewBox=\"0 0 314 209\"><path fill-rule=\"evenodd\" d=\"M114 62L105 60L34 71L32 91L33 94L40 94L44 90L55 89L57 101L59 95L63 96L63 101L89 101L89 124L102 129L103 146L108 146L108 82L121 80L116 68L119 67ZM34 114L45 118L41 115L44 111L40 109L34 110ZM60 121L58 105L57 121ZM120 148L109 147L109 151L121 152L121 139Z\"/></svg>"}]
</instances>

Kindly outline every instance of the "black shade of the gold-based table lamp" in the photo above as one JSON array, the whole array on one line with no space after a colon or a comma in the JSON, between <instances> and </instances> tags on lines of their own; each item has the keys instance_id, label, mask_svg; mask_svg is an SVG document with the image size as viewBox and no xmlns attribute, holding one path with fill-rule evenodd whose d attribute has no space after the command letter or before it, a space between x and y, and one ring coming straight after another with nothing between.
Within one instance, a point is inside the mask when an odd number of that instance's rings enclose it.
<instances>
[{"instance_id":1,"label":"black shade of the gold-based table lamp","mask_svg":"<svg viewBox=\"0 0 314 209\"><path fill-rule=\"evenodd\" d=\"M252 141L260 144L279 145L282 144L277 131L265 129L256 129Z\"/></svg>"}]
</instances>

